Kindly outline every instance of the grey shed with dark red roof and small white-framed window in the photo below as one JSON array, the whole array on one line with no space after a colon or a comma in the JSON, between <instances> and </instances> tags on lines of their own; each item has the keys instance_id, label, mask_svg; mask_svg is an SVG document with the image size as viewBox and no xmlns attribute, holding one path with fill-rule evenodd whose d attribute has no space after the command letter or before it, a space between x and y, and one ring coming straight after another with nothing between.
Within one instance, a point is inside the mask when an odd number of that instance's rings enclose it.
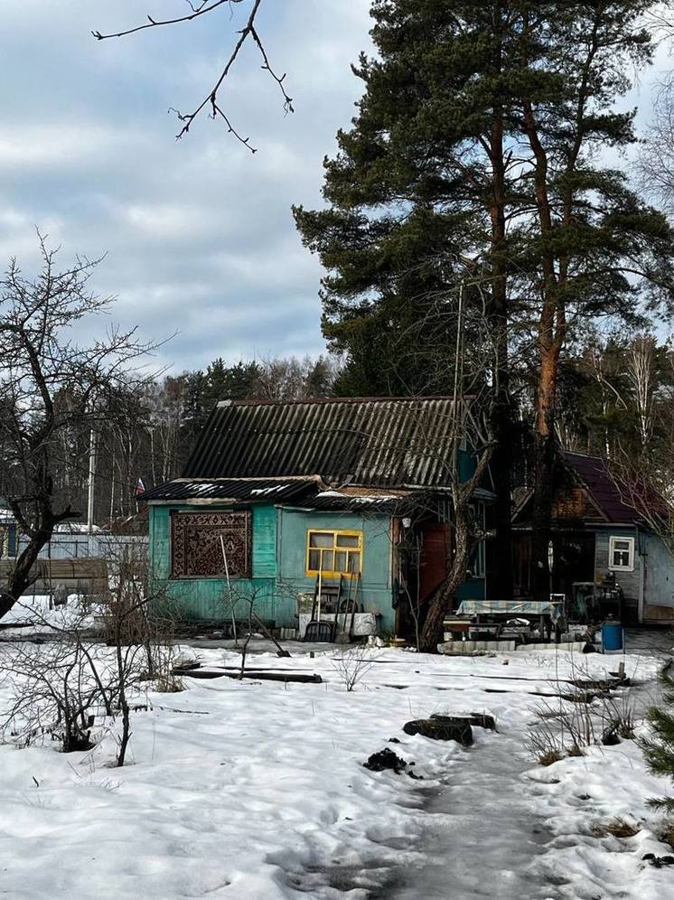
<instances>
[{"instance_id":1,"label":"grey shed with dark red roof and small white-framed window","mask_svg":"<svg viewBox=\"0 0 674 900\"><path fill-rule=\"evenodd\" d=\"M641 495L642 495L641 491ZM531 594L531 494L514 513L517 595ZM652 502L661 502L652 495ZM563 452L553 500L551 591L570 600L574 585L615 582L628 622L674 620L674 558L638 511L625 502L597 456ZM576 588L577 590L577 588Z\"/></svg>"}]
</instances>

